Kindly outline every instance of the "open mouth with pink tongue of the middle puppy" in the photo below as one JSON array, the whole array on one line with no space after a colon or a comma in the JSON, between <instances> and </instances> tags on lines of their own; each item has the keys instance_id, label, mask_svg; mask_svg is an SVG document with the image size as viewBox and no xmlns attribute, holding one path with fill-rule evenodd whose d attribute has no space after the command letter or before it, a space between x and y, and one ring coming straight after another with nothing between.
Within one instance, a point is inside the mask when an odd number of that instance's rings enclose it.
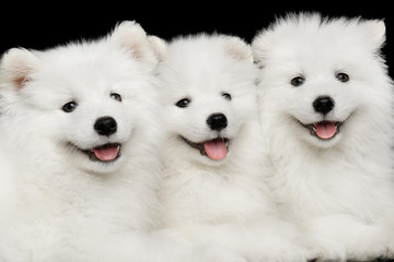
<instances>
[{"instance_id":1,"label":"open mouth with pink tongue of the middle puppy","mask_svg":"<svg viewBox=\"0 0 394 262\"><path fill-rule=\"evenodd\" d=\"M193 148L198 150L201 155L208 156L213 160L223 159L229 153L229 139L227 138L217 138L201 143L196 143L185 139L182 135L179 136L183 141L186 142L186 144Z\"/></svg>"}]
</instances>

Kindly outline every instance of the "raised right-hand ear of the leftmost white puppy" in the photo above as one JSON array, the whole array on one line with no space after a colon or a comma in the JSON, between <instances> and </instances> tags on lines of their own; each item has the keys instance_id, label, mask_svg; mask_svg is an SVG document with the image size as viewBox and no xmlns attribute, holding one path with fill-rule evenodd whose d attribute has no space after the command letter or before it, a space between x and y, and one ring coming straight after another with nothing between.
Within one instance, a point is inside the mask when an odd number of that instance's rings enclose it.
<instances>
[{"instance_id":1,"label":"raised right-hand ear of the leftmost white puppy","mask_svg":"<svg viewBox=\"0 0 394 262\"><path fill-rule=\"evenodd\" d=\"M136 60L154 67L158 63L146 31L135 21L124 21L117 24L108 38L130 51Z\"/></svg>"}]
</instances>

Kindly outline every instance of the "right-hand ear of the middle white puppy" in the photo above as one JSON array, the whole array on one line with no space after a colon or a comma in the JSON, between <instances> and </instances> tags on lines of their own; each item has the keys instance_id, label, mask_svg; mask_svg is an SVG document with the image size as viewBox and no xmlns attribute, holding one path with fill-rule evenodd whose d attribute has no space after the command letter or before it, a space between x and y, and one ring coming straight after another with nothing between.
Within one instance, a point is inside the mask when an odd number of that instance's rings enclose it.
<instances>
[{"instance_id":1,"label":"right-hand ear of the middle white puppy","mask_svg":"<svg viewBox=\"0 0 394 262\"><path fill-rule=\"evenodd\" d=\"M251 46L237 36L224 37L225 51L236 60L253 61Z\"/></svg>"}]
</instances>

